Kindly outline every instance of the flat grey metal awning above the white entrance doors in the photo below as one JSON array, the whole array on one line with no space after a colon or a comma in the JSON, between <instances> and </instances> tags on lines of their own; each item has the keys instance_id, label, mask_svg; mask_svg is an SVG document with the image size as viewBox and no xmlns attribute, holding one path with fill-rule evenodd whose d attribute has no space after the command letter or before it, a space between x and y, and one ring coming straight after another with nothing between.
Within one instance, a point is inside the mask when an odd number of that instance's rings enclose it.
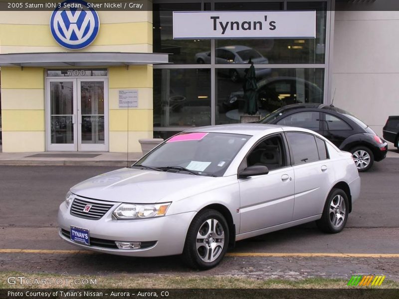
<instances>
[{"instance_id":1,"label":"flat grey metal awning above the white entrance doors","mask_svg":"<svg viewBox=\"0 0 399 299\"><path fill-rule=\"evenodd\" d=\"M0 54L0 66L83 67L169 63L165 53L56 52Z\"/></svg>"}]
</instances>

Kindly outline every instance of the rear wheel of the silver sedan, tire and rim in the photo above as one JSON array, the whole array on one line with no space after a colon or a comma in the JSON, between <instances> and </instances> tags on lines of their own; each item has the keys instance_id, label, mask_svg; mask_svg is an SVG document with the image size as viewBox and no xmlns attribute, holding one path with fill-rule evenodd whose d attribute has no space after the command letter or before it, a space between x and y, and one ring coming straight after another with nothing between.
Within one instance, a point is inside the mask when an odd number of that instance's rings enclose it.
<instances>
[{"instance_id":1,"label":"rear wheel of the silver sedan, tire and rim","mask_svg":"<svg viewBox=\"0 0 399 299\"><path fill-rule=\"evenodd\" d=\"M337 217L337 214L340 217ZM325 233L339 233L346 225L348 214L349 201L347 194L342 189L333 188L328 194L321 219L316 221L317 227Z\"/></svg>"}]
</instances>

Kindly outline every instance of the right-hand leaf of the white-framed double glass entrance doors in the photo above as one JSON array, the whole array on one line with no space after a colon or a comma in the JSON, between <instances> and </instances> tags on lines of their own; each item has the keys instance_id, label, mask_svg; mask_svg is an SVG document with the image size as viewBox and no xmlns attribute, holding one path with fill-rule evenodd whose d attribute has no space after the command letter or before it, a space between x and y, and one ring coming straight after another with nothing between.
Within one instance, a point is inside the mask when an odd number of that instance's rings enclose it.
<instances>
[{"instance_id":1,"label":"right-hand leaf of the white-framed double glass entrance doors","mask_svg":"<svg viewBox=\"0 0 399 299\"><path fill-rule=\"evenodd\" d=\"M77 79L78 150L108 150L107 79Z\"/></svg>"}]
</instances>

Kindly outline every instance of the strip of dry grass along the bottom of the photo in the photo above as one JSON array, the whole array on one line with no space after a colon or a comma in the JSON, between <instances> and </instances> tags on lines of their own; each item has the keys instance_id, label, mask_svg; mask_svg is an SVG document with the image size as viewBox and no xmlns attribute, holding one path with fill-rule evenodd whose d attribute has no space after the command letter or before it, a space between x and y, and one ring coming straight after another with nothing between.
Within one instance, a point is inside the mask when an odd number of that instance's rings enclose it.
<instances>
[{"instance_id":1,"label":"strip of dry grass along the bottom of the photo","mask_svg":"<svg viewBox=\"0 0 399 299\"><path fill-rule=\"evenodd\" d=\"M15 277L16 284L9 285L7 279ZM23 285L17 277L23 277ZM30 281L28 281L30 280ZM36 280L36 281L35 281ZM38 284L46 280L47 284ZM53 284L50 284L50 280ZM57 281L56 281L57 280ZM77 280L77 281L76 281ZM84 280L95 280L95 284L75 284ZM349 279L348 279L349 280ZM0 272L0 289L9 288L88 288L88 289L342 289L348 280L308 278L296 281L282 279L250 279L235 276L172 276L172 275L62 275L47 273ZM11 280L13 281L13 279ZM62 281L62 284L58 284ZM57 284L55 284L57 282ZM385 280L380 287L399 289L399 283Z\"/></svg>"}]
</instances>

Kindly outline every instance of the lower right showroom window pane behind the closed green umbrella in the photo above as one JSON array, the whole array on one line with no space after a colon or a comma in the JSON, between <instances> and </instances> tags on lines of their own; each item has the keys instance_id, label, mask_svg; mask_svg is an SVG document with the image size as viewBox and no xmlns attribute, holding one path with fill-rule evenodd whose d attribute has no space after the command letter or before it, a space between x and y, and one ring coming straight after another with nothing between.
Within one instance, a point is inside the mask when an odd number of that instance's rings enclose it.
<instances>
[{"instance_id":1,"label":"lower right showroom window pane behind the closed green umbrella","mask_svg":"<svg viewBox=\"0 0 399 299\"><path fill-rule=\"evenodd\" d=\"M218 69L216 125L239 123L244 114L243 82L233 82ZM241 69L245 70L245 69ZM259 72L259 69L255 69ZM262 116L295 103L323 103L324 69L272 69L257 79L256 100Z\"/></svg>"}]
</instances>

